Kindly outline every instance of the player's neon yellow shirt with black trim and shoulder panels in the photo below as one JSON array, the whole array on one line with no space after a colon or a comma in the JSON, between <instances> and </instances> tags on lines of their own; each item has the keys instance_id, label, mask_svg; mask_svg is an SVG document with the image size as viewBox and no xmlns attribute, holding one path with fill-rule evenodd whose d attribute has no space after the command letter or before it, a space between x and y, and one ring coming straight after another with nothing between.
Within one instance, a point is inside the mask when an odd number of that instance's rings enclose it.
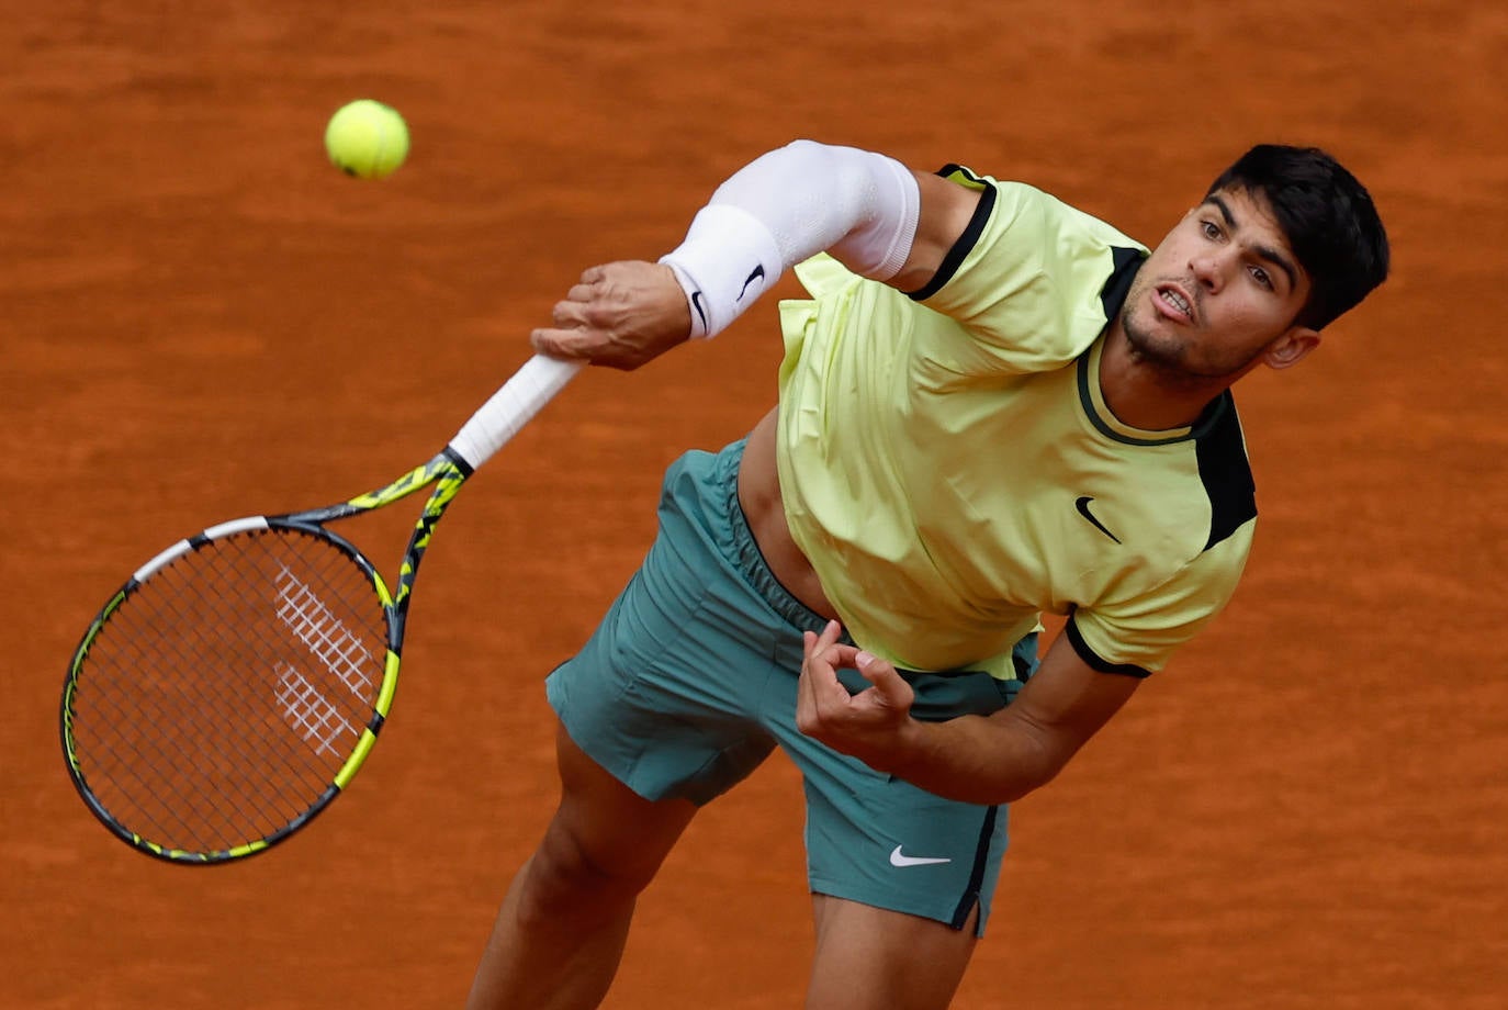
<instances>
[{"instance_id":1,"label":"player's neon yellow shirt with black trim and shoulder panels","mask_svg":"<svg viewBox=\"0 0 1508 1010\"><path fill-rule=\"evenodd\" d=\"M1231 598L1255 490L1235 404L1142 431L1099 351L1146 249L1041 190L982 190L911 295L829 256L783 301L777 460L792 537L849 635L908 669L989 669L1044 612L1098 669L1161 669Z\"/></svg>"}]
</instances>

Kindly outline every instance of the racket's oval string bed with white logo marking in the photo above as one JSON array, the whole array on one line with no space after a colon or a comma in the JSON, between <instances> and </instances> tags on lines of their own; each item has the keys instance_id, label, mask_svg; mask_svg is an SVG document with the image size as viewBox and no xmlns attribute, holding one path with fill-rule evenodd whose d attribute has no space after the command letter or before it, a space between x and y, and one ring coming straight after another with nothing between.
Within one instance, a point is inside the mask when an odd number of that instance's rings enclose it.
<instances>
[{"instance_id":1,"label":"racket's oval string bed with white logo marking","mask_svg":"<svg viewBox=\"0 0 1508 1010\"><path fill-rule=\"evenodd\" d=\"M386 617L366 570L294 529L211 540L146 579L83 660L89 791L164 849L223 852L327 796L371 721Z\"/></svg>"}]
</instances>

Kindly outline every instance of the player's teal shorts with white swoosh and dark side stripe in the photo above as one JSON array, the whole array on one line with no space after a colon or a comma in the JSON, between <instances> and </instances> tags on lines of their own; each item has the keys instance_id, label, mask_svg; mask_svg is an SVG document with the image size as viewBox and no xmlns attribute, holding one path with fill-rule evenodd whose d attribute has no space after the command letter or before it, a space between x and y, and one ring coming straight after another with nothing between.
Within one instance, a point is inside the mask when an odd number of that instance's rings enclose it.
<instances>
[{"instance_id":1,"label":"player's teal shorts with white swoosh and dark side stripe","mask_svg":"<svg viewBox=\"0 0 1508 1010\"><path fill-rule=\"evenodd\" d=\"M1006 810L941 799L796 730L801 632L823 618L771 574L737 502L743 443L688 452L665 473L659 535L582 651L546 681L567 734L635 793L706 803L778 745L801 769L811 891L983 935ZM1024 680L1036 636L1016 647ZM1003 709L1019 681L903 672L912 715ZM851 690L867 683L843 671Z\"/></svg>"}]
</instances>

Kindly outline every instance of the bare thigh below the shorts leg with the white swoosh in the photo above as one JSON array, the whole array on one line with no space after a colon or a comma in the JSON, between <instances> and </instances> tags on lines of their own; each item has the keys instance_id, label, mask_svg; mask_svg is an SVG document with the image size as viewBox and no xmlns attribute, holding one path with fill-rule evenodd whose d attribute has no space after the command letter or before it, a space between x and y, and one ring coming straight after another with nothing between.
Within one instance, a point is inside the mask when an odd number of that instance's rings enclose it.
<instances>
[{"instance_id":1,"label":"bare thigh below the shorts leg with the white swoosh","mask_svg":"<svg viewBox=\"0 0 1508 1010\"><path fill-rule=\"evenodd\" d=\"M823 894L813 895L813 1010L942 1010L977 944L973 923L952 929Z\"/></svg>"}]
</instances>

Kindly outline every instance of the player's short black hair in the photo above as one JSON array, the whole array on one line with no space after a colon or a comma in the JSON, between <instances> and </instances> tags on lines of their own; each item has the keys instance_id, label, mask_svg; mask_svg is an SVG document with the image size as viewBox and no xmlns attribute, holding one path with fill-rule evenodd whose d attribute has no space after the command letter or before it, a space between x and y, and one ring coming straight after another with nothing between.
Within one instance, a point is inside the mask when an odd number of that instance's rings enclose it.
<instances>
[{"instance_id":1,"label":"player's short black hair","mask_svg":"<svg viewBox=\"0 0 1508 1010\"><path fill-rule=\"evenodd\" d=\"M1321 329L1356 308L1387 277L1387 232L1371 194L1320 148L1264 143L1220 173L1221 190L1261 193L1309 274L1309 300L1295 320Z\"/></svg>"}]
</instances>

